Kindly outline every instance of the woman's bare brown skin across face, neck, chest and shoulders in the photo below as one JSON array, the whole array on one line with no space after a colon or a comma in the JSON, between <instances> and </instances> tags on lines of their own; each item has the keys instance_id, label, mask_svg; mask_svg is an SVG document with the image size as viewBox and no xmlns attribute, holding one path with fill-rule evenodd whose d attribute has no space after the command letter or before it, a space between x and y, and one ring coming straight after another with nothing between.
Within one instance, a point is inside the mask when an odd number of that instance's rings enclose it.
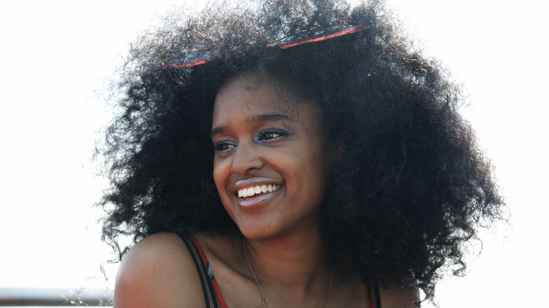
<instances>
[{"instance_id":1,"label":"woman's bare brown skin across face, neck, chest and shoulders","mask_svg":"<svg viewBox=\"0 0 549 308\"><path fill-rule=\"evenodd\" d=\"M229 79L213 112L214 179L241 234L196 233L229 307L258 307L258 276L270 308L324 307L330 272L318 234L334 156L317 108L281 79L248 74ZM283 99L284 98L284 99ZM274 192L239 198L238 189L270 184ZM244 237L242 236L244 235ZM381 289L384 308L413 307L416 290ZM189 251L173 233L137 243L123 259L115 307L206 307ZM368 307L352 267L332 276L329 307Z\"/></svg>"}]
</instances>

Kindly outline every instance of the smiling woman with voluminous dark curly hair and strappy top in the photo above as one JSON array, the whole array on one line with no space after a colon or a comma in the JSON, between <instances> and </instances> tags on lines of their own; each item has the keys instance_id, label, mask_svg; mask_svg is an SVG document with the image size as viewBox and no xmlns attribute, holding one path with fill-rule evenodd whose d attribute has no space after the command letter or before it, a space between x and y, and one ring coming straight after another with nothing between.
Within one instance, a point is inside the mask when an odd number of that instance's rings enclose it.
<instances>
[{"instance_id":1,"label":"smiling woman with voluminous dark curly hair and strappy top","mask_svg":"<svg viewBox=\"0 0 549 308\"><path fill-rule=\"evenodd\" d=\"M103 149L117 307L412 307L502 198L460 93L378 1L170 15ZM206 35L207 34L207 35Z\"/></svg>"}]
</instances>

